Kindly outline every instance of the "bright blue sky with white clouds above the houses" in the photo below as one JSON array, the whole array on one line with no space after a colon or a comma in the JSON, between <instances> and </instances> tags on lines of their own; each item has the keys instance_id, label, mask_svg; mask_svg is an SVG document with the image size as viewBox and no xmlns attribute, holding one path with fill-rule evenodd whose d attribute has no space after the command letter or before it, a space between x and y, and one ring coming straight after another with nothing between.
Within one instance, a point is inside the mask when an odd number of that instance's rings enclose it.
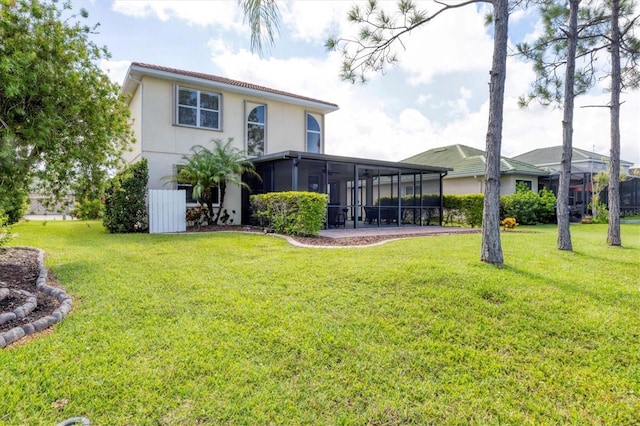
<instances>
[{"instance_id":1,"label":"bright blue sky with white clouds above the houses","mask_svg":"<svg viewBox=\"0 0 640 426\"><path fill-rule=\"evenodd\" d=\"M399 161L428 149L462 144L485 149L489 112L492 28L488 9L448 11L403 38L398 62L369 74L366 84L339 77L342 57L329 52L329 37L349 37L358 27L346 19L349 0L278 1L281 23L275 46L262 57L250 50L250 30L236 0L74 0L99 23L92 40L111 58L101 67L122 84L131 62L144 62L250 82L338 104L326 117L325 153ZM388 12L396 1L380 1ZM433 1L417 1L429 11ZM490 10L490 9L489 9ZM510 49L540 30L535 11L510 16ZM602 59L608 63L608 58ZM507 61L502 155L516 156L562 144L562 110L532 103L530 63ZM609 155L608 80L576 98L576 148ZM640 91L623 93L621 158L640 166Z\"/></svg>"}]
</instances>

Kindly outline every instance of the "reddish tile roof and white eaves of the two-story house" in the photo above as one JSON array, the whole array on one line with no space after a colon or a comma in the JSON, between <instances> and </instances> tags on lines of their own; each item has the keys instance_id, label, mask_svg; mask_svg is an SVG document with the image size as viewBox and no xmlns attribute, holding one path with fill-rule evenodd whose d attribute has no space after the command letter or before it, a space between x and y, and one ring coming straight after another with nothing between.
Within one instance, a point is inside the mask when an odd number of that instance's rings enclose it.
<instances>
[{"instance_id":1,"label":"reddish tile roof and white eaves of the two-story house","mask_svg":"<svg viewBox=\"0 0 640 426\"><path fill-rule=\"evenodd\" d=\"M321 101L319 99L314 99L307 96L296 95L282 90L259 86L257 84L219 77L217 75L204 74L194 71L185 71L159 65L144 64L140 62L131 63L129 70L127 71L125 80L122 84L123 93L135 93L138 85L140 84L140 79L146 75L157 78L164 78L171 81L177 81L184 84L197 84L233 93L241 93L259 98L304 105L321 109L325 112L338 110L338 105L334 103Z\"/></svg>"}]
</instances>

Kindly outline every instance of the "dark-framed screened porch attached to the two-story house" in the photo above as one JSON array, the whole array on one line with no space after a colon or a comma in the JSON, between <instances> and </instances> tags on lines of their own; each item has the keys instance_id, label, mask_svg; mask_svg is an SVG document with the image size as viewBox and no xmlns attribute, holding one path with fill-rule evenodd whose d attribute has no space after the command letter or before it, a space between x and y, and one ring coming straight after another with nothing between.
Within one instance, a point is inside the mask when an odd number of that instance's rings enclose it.
<instances>
[{"instance_id":1,"label":"dark-framed screened porch attached to the two-story house","mask_svg":"<svg viewBox=\"0 0 640 426\"><path fill-rule=\"evenodd\" d=\"M442 225L442 179L451 169L298 151L252 161L261 179L247 179L247 223L250 194L312 191L328 195L327 228Z\"/></svg>"}]
</instances>

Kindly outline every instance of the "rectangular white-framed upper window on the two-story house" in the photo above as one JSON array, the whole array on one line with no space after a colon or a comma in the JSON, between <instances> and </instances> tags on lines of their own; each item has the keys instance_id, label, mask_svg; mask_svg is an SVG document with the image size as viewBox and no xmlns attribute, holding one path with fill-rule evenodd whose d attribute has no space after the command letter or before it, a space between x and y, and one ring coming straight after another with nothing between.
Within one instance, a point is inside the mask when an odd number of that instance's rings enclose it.
<instances>
[{"instance_id":1,"label":"rectangular white-framed upper window on the two-story house","mask_svg":"<svg viewBox=\"0 0 640 426\"><path fill-rule=\"evenodd\" d=\"M220 95L177 87L176 124L220 130Z\"/></svg>"}]
</instances>

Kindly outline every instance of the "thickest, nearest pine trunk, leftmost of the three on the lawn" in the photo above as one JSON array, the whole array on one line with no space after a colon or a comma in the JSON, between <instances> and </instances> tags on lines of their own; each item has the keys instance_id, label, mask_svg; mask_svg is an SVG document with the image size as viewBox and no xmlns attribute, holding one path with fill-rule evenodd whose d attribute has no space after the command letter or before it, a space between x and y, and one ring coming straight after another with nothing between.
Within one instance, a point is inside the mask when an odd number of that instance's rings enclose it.
<instances>
[{"instance_id":1,"label":"thickest, nearest pine trunk, leftmost of the three on the lawn","mask_svg":"<svg viewBox=\"0 0 640 426\"><path fill-rule=\"evenodd\" d=\"M493 16L493 62L489 89L489 125L487 129L487 163L480 260L502 266L504 260L500 242L500 148L502 144L504 82L507 74L509 1L494 0Z\"/></svg>"}]
</instances>

